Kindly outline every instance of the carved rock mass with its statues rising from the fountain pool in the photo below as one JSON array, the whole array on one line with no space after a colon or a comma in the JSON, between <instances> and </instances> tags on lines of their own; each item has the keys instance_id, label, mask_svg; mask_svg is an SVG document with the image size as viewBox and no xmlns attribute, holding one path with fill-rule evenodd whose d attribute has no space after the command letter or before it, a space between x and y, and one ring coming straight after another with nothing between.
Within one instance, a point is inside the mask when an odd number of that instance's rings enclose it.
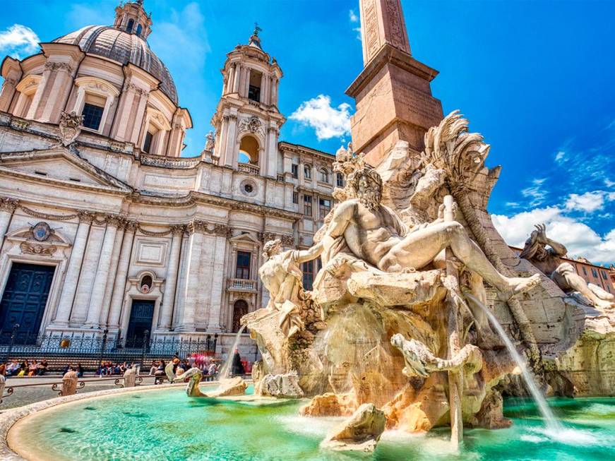
<instances>
[{"instance_id":1,"label":"carved rock mass with its statues rising from the fountain pool","mask_svg":"<svg viewBox=\"0 0 615 461\"><path fill-rule=\"evenodd\" d=\"M313 397L302 414L350 415L369 403L388 429L450 424L458 443L464 423L509 424L500 384L515 366L483 305L537 370L574 344L583 319L491 224L485 207L499 168L484 167L482 136L453 112L425 145L419 155L400 141L375 168L350 146L338 150L338 203L311 248L265 244L268 305L242 323L263 357L256 381L299 386ZM317 258L308 292L301 263ZM262 395L269 388L255 385ZM280 393L289 394L300 393Z\"/></svg>"}]
</instances>

